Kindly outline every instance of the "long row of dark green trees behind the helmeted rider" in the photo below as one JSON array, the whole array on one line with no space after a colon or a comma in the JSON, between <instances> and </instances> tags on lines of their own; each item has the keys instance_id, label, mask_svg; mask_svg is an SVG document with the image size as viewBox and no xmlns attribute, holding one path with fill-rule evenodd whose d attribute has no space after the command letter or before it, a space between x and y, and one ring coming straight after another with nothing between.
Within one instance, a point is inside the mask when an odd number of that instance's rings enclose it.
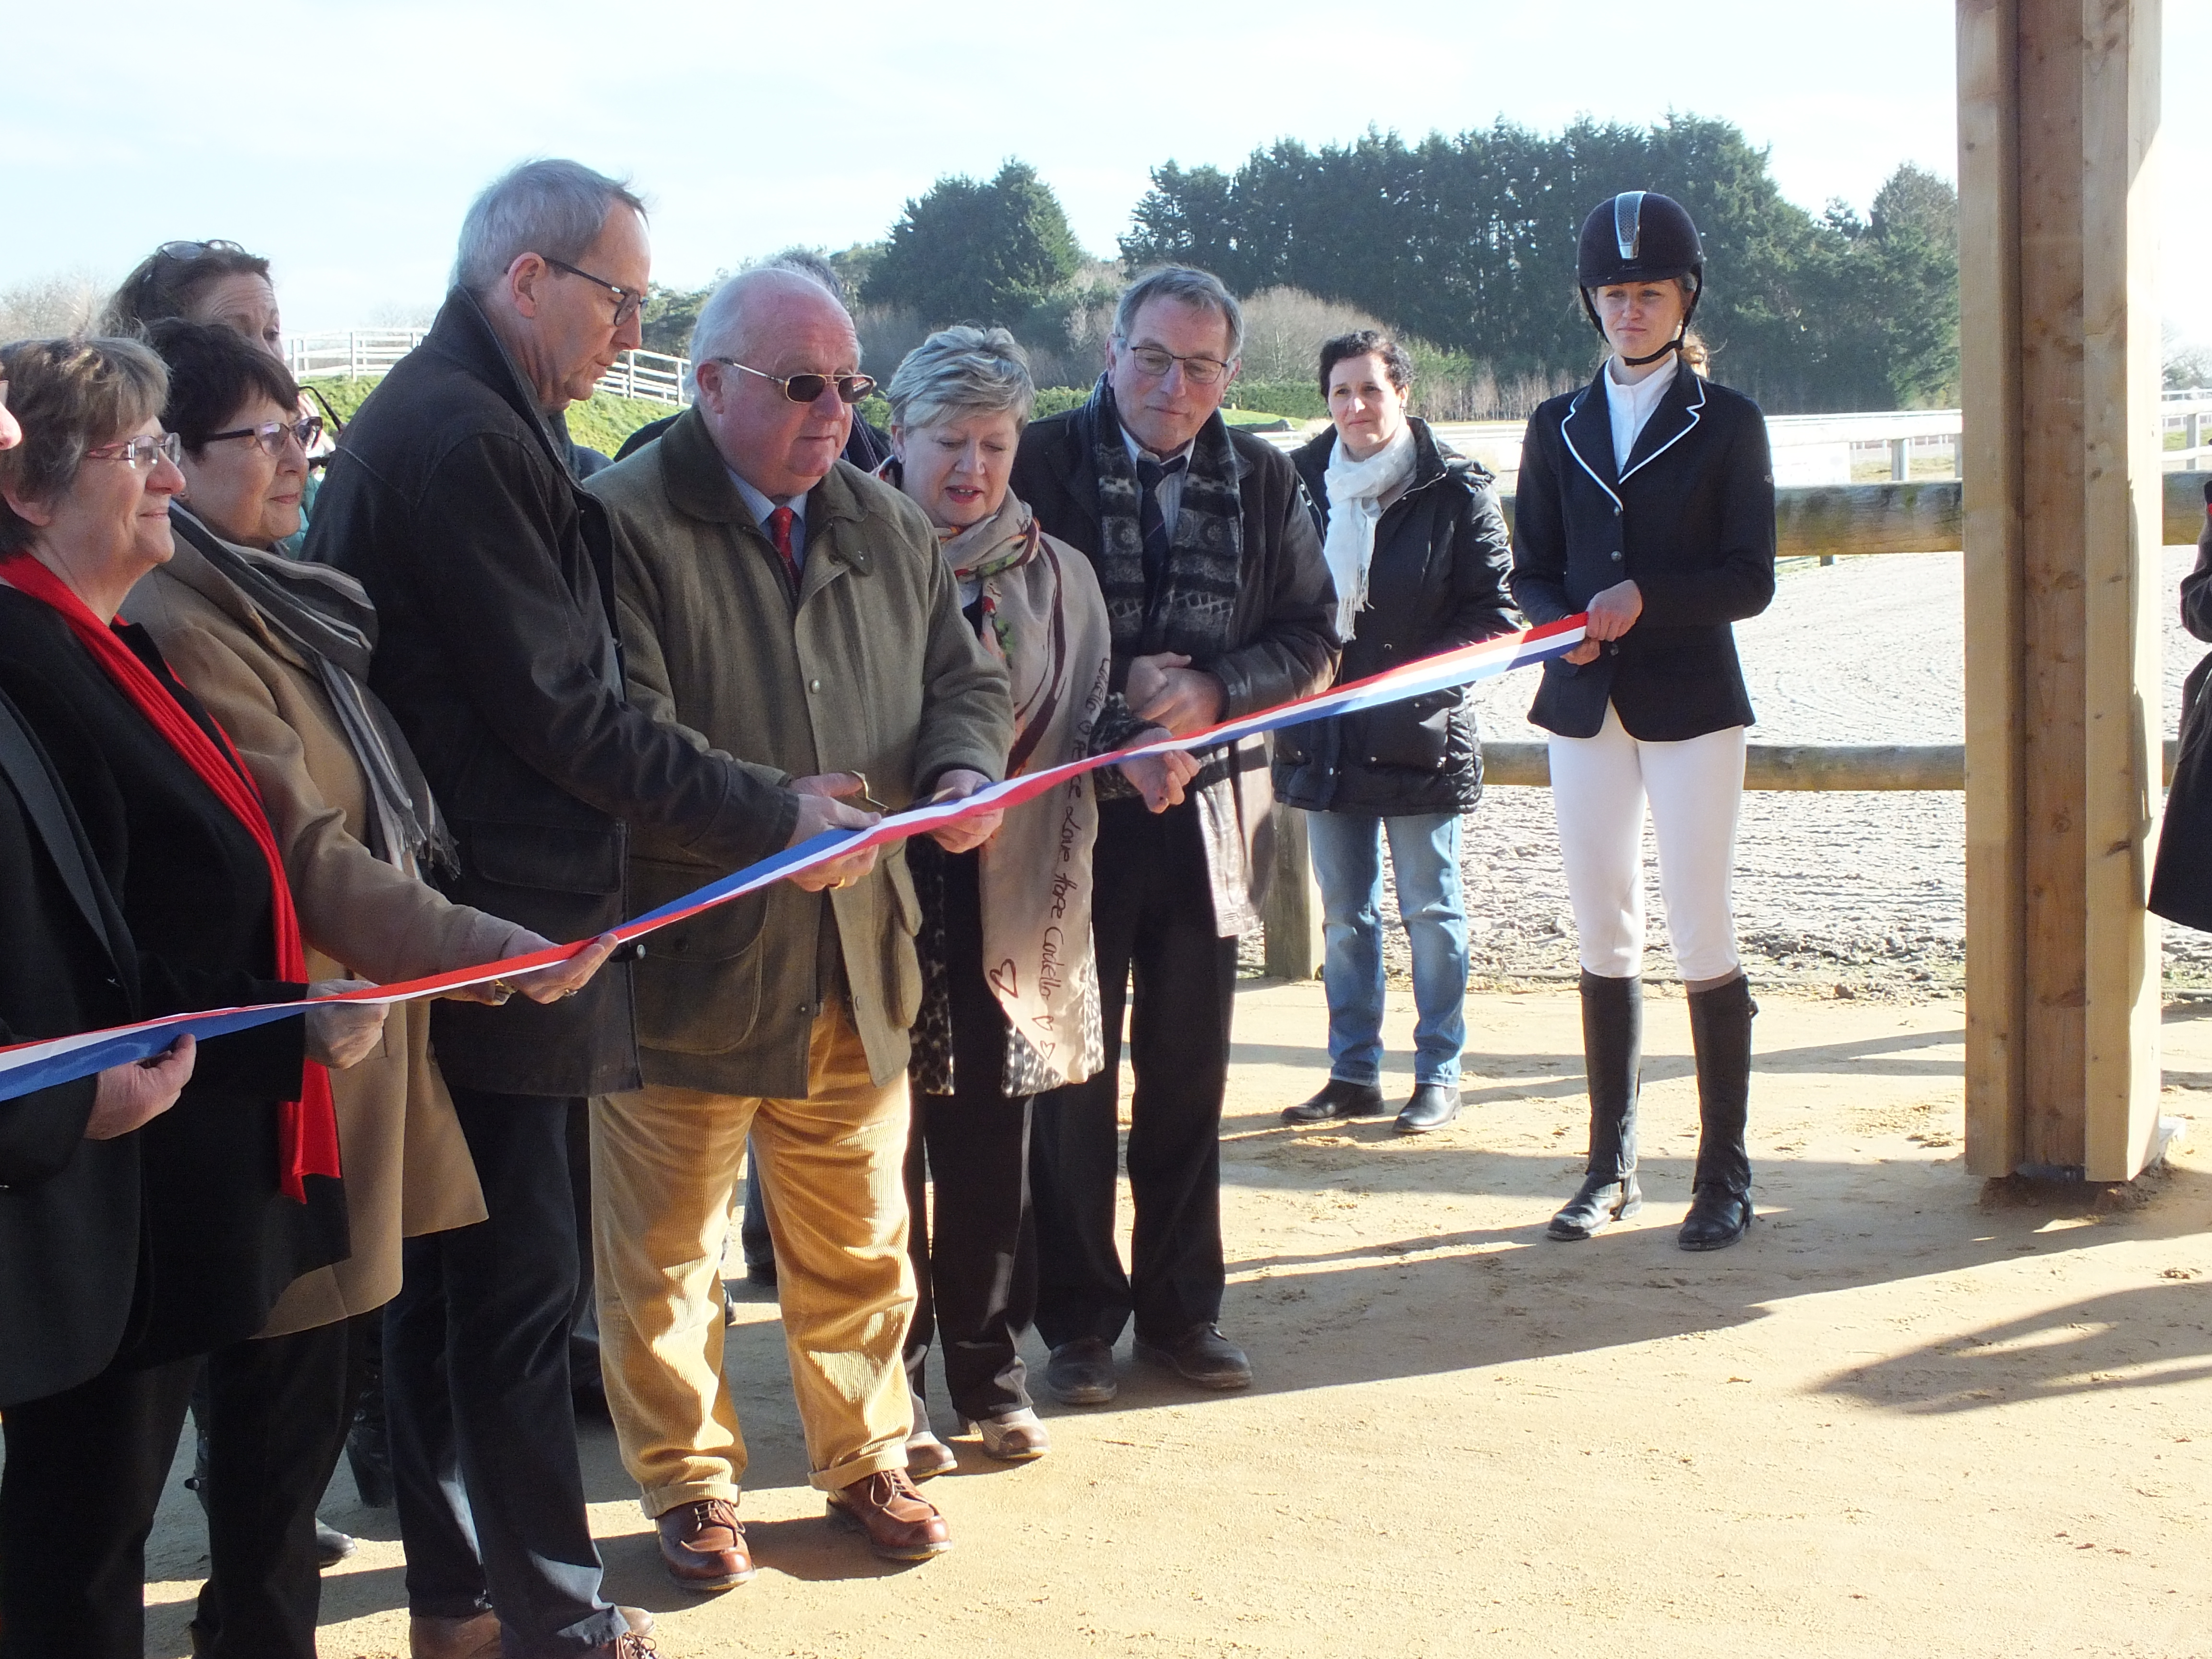
<instances>
[{"instance_id":1,"label":"long row of dark green trees behind the helmeted rider","mask_svg":"<svg viewBox=\"0 0 2212 1659\"><path fill-rule=\"evenodd\" d=\"M1637 128L1588 117L1557 135L1511 122L1407 144L1283 139L1234 173L1152 170L1121 257L1175 259L1243 294L1292 285L1489 365L1500 380L1588 374L1599 341L1575 294L1588 210L1663 190L1697 219L1714 369L1774 409L1927 403L1955 383L1958 201L1916 168L1860 223L1814 217L1728 122Z\"/></svg>"}]
</instances>

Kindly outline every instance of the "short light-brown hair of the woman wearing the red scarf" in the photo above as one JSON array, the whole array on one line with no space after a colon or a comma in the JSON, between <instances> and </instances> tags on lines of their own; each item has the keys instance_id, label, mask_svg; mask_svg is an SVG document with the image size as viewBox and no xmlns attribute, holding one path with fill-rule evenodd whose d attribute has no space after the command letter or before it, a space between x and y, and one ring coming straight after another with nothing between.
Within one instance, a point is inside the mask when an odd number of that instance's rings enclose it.
<instances>
[{"instance_id":1,"label":"short light-brown hair of the woman wearing the red scarf","mask_svg":"<svg viewBox=\"0 0 2212 1659\"><path fill-rule=\"evenodd\" d=\"M86 449L128 436L168 403L168 369L137 341L15 341L0 349L0 378L22 427L22 442L0 449L0 489L31 502L64 493ZM0 500L0 553L35 533Z\"/></svg>"}]
</instances>

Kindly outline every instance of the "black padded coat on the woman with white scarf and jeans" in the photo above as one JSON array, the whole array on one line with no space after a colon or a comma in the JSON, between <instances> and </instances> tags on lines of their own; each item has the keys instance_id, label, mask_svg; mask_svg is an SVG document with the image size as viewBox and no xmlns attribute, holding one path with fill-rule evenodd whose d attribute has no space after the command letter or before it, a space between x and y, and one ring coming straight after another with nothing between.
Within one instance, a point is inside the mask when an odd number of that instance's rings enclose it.
<instances>
[{"instance_id":1,"label":"black padded coat on the woman with white scarf and jeans","mask_svg":"<svg viewBox=\"0 0 2212 1659\"><path fill-rule=\"evenodd\" d=\"M1491 473L1413 420L1413 478L1376 524L1367 606L1336 684L1513 633L1513 553ZM1327 535L1336 429L1292 453ZM1482 799L1482 732L1467 688L1407 697L1274 734L1274 796L1307 812L1469 812Z\"/></svg>"}]
</instances>

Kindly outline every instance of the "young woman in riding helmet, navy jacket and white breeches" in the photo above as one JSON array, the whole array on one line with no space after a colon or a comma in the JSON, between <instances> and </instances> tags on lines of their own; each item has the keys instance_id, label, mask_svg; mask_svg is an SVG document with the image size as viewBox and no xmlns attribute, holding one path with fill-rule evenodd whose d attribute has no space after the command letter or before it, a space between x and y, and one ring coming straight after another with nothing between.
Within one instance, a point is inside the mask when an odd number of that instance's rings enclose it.
<instances>
[{"instance_id":1,"label":"young woman in riding helmet, navy jacket and white breeches","mask_svg":"<svg viewBox=\"0 0 2212 1659\"><path fill-rule=\"evenodd\" d=\"M1551 1237L1588 1239L1644 1206L1648 801L1697 1046L1697 1175L1679 1241L1719 1250L1752 1223L1743 1130L1759 1011L1730 909L1752 723L1730 624L1774 597L1774 465L1759 405L1681 361L1705 283L1681 204L1650 190L1599 204L1575 281L1613 354L1528 420L1513 531L1513 597L1528 619L1588 613L1584 644L1544 664L1528 710L1551 732L1590 1086L1588 1175Z\"/></svg>"}]
</instances>

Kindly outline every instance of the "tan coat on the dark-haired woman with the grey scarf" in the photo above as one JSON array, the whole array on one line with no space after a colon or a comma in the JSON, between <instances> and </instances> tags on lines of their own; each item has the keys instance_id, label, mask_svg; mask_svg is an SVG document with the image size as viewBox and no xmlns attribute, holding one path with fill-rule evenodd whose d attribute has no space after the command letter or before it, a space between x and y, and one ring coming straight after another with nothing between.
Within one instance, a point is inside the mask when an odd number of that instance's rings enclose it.
<instances>
[{"instance_id":1,"label":"tan coat on the dark-haired woman with the grey scarf","mask_svg":"<svg viewBox=\"0 0 2212 1659\"><path fill-rule=\"evenodd\" d=\"M347 832L367 823L367 779L321 681L184 538L131 591L124 615L155 637L261 785L310 978L409 980L509 953L513 922L447 902ZM429 1057L427 1002L392 1009L383 1046L334 1071L330 1091L354 1254L292 1281L263 1336L383 1307L400 1287L400 1239L484 1219L469 1144Z\"/></svg>"}]
</instances>

